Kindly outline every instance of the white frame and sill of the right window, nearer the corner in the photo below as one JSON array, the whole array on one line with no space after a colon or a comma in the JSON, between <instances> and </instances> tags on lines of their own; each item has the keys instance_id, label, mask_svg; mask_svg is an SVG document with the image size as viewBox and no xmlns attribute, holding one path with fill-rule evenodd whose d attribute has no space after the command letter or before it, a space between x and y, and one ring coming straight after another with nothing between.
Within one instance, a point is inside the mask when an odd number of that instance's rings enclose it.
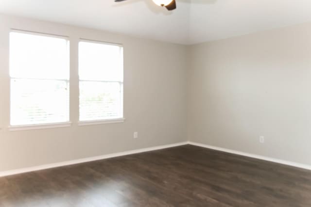
<instances>
[{"instance_id":1,"label":"white frame and sill of the right window, nearer the corner","mask_svg":"<svg viewBox=\"0 0 311 207\"><path fill-rule=\"evenodd\" d=\"M123 123L125 121L124 118L124 59L123 59L123 45L118 44L118 43L110 43L110 42L104 42L104 41L98 41L98 40L89 40L89 39L82 39L80 38L80 42L86 42L86 43L96 43L96 44L102 44L102 45L113 45L113 46L118 46L122 48L122 56L121 56L121 61L122 61L122 81L107 81L107 80L85 80L85 79L80 79L79 76L79 97L80 97L80 82L86 81L86 82L104 82L104 83L109 83L109 82L115 82L120 84L120 89L121 89L121 113L122 117L121 118L116 118L116 119L100 119L100 120L89 120L89 121L80 121L80 107L79 107L79 121L78 121L78 126L88 126L88 125L100 125L100 124L114 124L114 123ZM78 43L78 44L79 44ZM79 49L78 49L79 50ZM79 53L79 51L78 51ZM80 98L79 98L79 105L80 105Z\"/></svg>"}]
</instances>

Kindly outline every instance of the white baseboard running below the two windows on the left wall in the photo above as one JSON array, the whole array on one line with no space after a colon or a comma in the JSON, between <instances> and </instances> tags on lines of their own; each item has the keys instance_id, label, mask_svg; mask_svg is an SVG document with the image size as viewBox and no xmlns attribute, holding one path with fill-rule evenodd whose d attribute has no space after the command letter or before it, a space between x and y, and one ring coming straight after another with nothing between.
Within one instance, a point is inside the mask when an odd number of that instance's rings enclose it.
<instances>
[{"instance_id":1,"label":"white baseboard running below the two windows on the left wall","mask_svg":"<svg viewBox=\"0 0 311 207\"><path fill-rule=\"evenodd\" d=\"M50 169L50 168L55 168L55 167L66 166L66 165L79 164L79 163L83 163L83 162L90 162L90 161L95 161L95 160L100 160L100 159L108 159L108 158L115 158L115 157L120 157L120 156L124 156L124 155L132 155L132 154L137 154L137 153L141 153L141 152L154 151L154 150L158 150L158 149L165 149L165 148L170 148L170 147L175 147L175 146L180 146L180 145L185 145L185 144L188 144L188 142L166 144L166 145L161 145L161 146L155 146L155 147L148 147L148 148L143 148L143 149L126 151L126 152L101 155L101 156L96 156L96 157L91 157L91 158L75 159L75 160L70 160L70 161L57 162L57 163L46 164L46 165L39 165L39 166L35 166L35 167L28 167L28 168L22 168L22 169L17 169L17 170L3 171L3 172L0 172L0 177L8 176L8 175L16 175L16 174L21 174L21 173L28 173L28 172L38 171L38 170L45 170L45 169Z\"/></svg>"}]
</instances>

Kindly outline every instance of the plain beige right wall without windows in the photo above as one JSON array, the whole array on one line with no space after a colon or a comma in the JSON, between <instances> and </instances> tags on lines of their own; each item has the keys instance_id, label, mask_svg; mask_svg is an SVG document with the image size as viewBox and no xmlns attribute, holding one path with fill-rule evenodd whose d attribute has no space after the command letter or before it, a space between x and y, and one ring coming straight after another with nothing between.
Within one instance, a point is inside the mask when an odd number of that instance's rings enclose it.
<instances>
[{"instance_id":1,"label":"plain beige right wall without windows","mask_svg":"<svg viewBox=\"0 0 311 207\"><path fill-rule=\"evenodd\" d=\"M190 141L311 164L310 23L194 45L189 54Z\"/></svg>"}]
</instances>

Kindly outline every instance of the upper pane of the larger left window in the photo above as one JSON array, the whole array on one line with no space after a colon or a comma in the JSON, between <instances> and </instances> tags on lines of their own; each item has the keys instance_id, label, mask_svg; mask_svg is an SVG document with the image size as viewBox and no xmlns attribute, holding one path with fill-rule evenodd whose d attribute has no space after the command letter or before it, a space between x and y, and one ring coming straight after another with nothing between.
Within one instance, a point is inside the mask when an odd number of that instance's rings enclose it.
<instances>
[{"instance_id":1,"label":"upper pane of the larger left window","mask_svg":"<svg viewBox=\"0 0 311 207\"><path fill-rule=\"evenodd\" d=\"M28 33L10 33L10 76L69 80L69 42Z\"/></svg>"}]
</instances>

